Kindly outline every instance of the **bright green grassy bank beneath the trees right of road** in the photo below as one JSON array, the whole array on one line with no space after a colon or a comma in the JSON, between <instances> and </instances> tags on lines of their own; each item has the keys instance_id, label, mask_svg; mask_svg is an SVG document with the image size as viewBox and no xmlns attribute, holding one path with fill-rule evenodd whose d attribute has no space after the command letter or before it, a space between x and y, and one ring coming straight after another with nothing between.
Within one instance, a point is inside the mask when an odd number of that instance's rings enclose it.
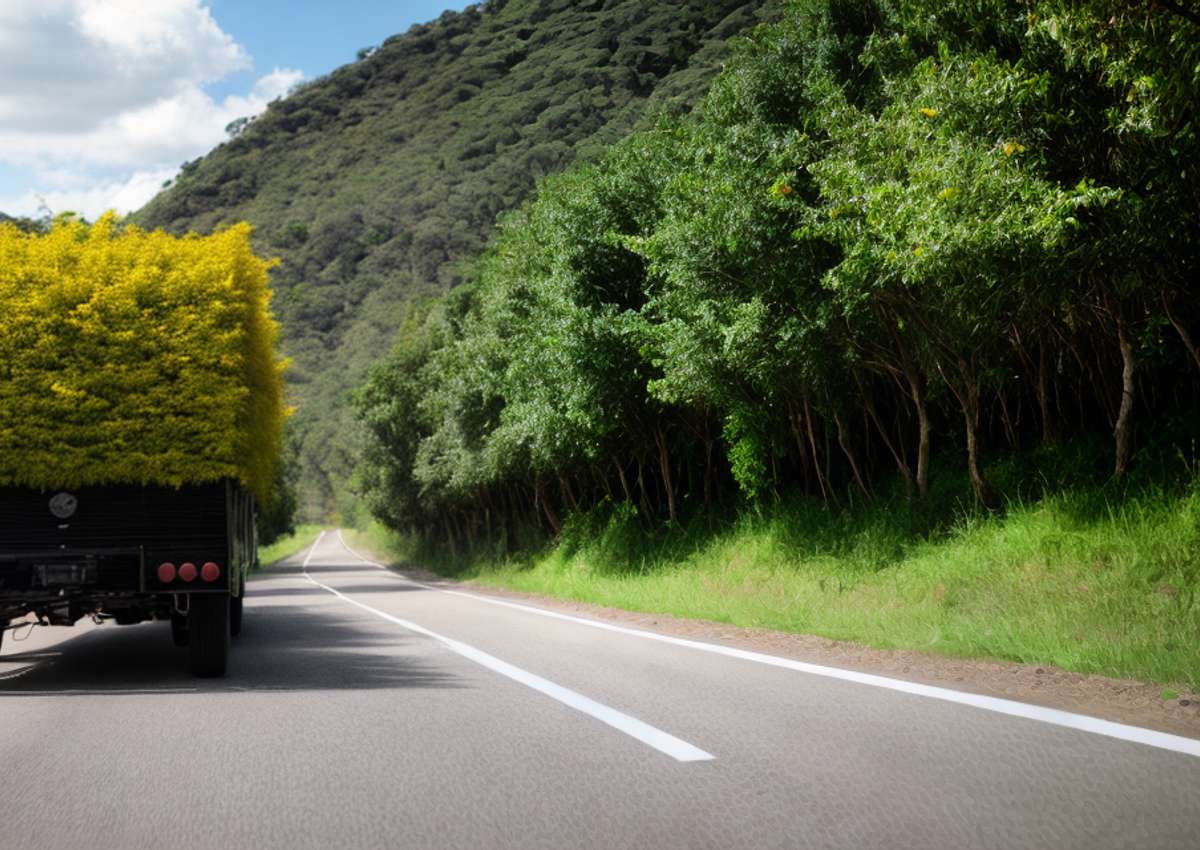
<instances>
[{"instance_id":1,"label":"bright green grassy bank beneath the trees right of road","mask_svg":"<svg viewBox=\"0 0 1200 850\"><path fill-rule=\"evenodd\" d=\"M649 534L626 505L515 556L421 552L378 526L350 545L562 599L1200 688L1194 484L1080 487L919 522L902 499L853 513L800 501Z\"/></svg>"}]
</instances>

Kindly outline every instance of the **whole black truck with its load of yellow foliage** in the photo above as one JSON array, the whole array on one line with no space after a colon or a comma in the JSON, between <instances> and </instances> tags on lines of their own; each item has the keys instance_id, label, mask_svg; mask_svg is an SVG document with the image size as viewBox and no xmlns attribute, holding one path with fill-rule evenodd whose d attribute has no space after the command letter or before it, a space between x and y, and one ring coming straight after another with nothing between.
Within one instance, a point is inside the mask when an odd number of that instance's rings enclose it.
<instances>
[{"instance_id":1,"label":"whole black truck with its load of yellow foliage","mask_svg":"<svg viewBox=\"0 0 1200 850\"><path fill-rule=\"evenodd\" d=\"M287 415L250 235L0 223L0 648L164 621L226 674Z\"/></svg>"}]
</instances>

